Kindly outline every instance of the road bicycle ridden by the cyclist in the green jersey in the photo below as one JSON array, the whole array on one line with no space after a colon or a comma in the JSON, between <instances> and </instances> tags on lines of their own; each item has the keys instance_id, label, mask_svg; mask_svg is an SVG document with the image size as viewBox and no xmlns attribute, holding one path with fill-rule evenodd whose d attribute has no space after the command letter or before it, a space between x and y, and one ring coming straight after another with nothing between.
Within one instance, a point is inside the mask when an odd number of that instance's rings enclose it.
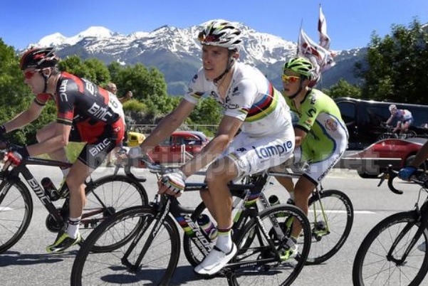
<instances>
[{"instance_id":1,"label":"road bicycle ridden by the cyclist in the green jersey","mask_svg":"<svg viewBox=\"0 0 428 286\"><path fill-rule=\"evenodd\" d=\"M268 170L269 176L283 176L292 179L299 178L302 174L302 168L298 169L297 167L272 168ZM247 176L245 179L246 184L256 184L259 176ZM264 186L266 187L267 185L265 184ZM263 190L260 192L260 196L260 203L256 206L259 209L270 206L271 197L266 198ZM273 201L276 201L276 199L273 199ZM209 216L204 202L197 206L192 214L192 219L195 220L202 214ZM332 258L335 253L338 253L350 235L354 221L353 203L343 191L325 190L322 184L319 184L309 198L308 220L310 222L312 242L310 244L310 253L306 258L306 265L324 263ZM190 264L196 266L202 262L204 255L199 252L188 235L184 235L183 248Z\"/></svg>"}]
</instances>

